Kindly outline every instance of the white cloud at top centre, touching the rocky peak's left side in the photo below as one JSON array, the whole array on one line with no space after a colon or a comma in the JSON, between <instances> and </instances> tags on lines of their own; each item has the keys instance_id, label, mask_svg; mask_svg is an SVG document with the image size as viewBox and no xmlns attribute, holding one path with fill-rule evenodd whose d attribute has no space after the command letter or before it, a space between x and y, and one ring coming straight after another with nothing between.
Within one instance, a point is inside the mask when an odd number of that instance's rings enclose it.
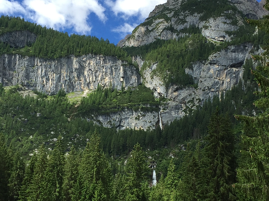
<instances>
[{"instance_id":1,"label":"white cloud at top centre, touching the rocky peak's left side","mask_svg":"<svg viewBox=\"0 0 269 201\"><path fill-rule=\"evenodd\" d=\"M122 13L125 18L135 15L140 19L145 19L156 5L164 4L167 0L106 0L105 2L112 8L115 15Z\"/></svg>"}]
</instances>

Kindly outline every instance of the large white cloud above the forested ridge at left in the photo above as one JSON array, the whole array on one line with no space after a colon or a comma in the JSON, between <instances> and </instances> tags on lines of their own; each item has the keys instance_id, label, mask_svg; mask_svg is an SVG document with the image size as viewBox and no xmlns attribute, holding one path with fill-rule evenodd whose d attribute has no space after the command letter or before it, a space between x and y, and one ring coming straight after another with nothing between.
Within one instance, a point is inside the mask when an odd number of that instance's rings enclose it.
<instances>
[{"instance_id":1,"label":"large white cloud above the forested ridge at left","mask_svg":"<svg viewBox=\"0 0 269 201\"><path fill-rule=\"evenodd\" d=\"M0 0L0 13L13 15L24 14L25 18L31 19L42 26L54 29L73 28L80 34L89 34L91 27L87 23L90 13L105 22L105 8L98 0L23 0L18 1Z\"/></svg>"}]
</instances>

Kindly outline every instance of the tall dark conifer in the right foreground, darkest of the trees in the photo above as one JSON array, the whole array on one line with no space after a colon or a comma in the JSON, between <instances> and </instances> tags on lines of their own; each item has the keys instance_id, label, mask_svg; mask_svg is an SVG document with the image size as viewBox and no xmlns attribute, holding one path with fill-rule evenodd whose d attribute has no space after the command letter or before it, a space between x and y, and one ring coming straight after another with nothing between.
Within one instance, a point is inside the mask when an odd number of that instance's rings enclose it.
<instances>
[{"instance_id":1,"label":"tall dark conifer in the right foreground, darkest of the trees","mask_svg":"<svg viewBox=\"0 0 269 201\"><path fill-rule=\"evenodd\" d=\"M212 114L206 136L205 156L208 166L209 198L211 200L235 200L232 184L236 181L234 135L230 119Z\"/></svg>"}]
</instances>

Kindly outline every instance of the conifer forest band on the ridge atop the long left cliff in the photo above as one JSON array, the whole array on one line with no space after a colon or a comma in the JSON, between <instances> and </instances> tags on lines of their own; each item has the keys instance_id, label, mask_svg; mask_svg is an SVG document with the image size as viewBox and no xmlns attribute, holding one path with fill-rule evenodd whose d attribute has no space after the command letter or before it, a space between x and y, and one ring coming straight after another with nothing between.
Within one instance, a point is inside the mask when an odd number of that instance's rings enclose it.
<instances>
[{"instance_id":1,"label":"conifer forest band on the ridge atop the long left cliff","mask_svg":"<svg viewBox=\"0 0 269 201\"><path fill-rule=\"evenodd\" d=\"M37 35L33 44L28 44L23 48L12 48L8 44L0 43L0 54L22 54L43 58L59 58L68 55L81 56L84 54L103 54L115 56L121 60L126 60L132 64L131 57L127 52L114 44L109 43L108 39L100 40L93 36L76 35L58 32L51 28L41 27L30 22L25 22L19 17L0 17L0 35L15 30L28 30Z\"/></svg>"}]
</instances>

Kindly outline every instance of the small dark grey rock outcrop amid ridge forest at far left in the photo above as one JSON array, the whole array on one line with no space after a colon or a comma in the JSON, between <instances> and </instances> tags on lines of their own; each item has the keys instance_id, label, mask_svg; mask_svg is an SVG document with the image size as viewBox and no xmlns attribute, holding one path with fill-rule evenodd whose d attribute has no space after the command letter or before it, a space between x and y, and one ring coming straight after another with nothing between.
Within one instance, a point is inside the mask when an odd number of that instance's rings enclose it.
<instances>
[{"instance_id":1,"label":"small dark grey rock outcrop amid ridge forest at far left","mask_svg":"<svg viewBox=\"0 0 269 201\"><path fill-rule=\"evenodd\" d=\"M0 41L9 44L11 47L24 47L36 41L37 35L29 31L7 32L0 36Z\"/></svg>"}]
</instances>

